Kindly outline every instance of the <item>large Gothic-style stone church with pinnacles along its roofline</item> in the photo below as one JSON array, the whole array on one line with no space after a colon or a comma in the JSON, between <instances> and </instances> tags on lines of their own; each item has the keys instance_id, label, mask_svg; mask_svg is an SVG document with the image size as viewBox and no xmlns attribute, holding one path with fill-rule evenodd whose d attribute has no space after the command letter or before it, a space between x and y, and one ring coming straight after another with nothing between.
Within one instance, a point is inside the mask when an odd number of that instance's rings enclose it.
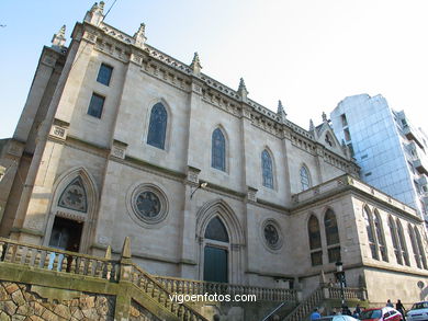
<instances>
[{"instance_id":1,"label":"large Gothic-style stone church with pinnacles along its roofline","mask_svg":"<svg viewBox=\"0 0 428 321\"><path fill-rule=\"evenodd\" d=\"M103 21L44 47L0 141L0 236L133 260L156 275L303 288L363 285L373 305L428 294L414 208L362 183L329 121L307 129ZM257 90L257 89L255 89Z\"/></svg>"}]
</instances>

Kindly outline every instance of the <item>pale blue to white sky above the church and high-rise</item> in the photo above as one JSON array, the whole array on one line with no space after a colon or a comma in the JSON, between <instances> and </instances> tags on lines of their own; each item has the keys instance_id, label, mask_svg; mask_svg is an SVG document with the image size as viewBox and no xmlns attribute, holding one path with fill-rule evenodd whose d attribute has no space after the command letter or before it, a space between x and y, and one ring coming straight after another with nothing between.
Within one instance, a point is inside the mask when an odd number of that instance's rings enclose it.
<instances>
[{"instance_id":1,"label":"pale blue to white sky above the church and high-rise","mask_svg":"<svg viewBox=\"0 0 428 321\"><path fill-rule=\"evenodd\" d=\"M114 0L105 1L105 11ZM93 1L0 1L0 138L11 137L43 45ZM345 96L383 94L428 131L425 0L116 0L105 22L308 127Z\"/></svg>"}]
</instances>

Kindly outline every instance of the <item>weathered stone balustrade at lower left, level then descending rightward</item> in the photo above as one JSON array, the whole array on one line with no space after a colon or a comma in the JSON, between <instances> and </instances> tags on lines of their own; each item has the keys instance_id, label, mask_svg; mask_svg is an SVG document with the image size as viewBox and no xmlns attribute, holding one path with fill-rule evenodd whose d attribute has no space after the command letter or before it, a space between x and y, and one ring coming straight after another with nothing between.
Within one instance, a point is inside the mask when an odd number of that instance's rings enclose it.
<instances>
[{"instance_id":1,"label":"weathered stone balustrade at lower left, level then descending rightward","mask_svg":"<svg viewBox=\"0 0 428 321\"><path fill-rule=\"evenodd\" d=\"M151 275L132 262L128 238L125 239L122 256L119 261L111 260L110 249L106 251L105 257L97 257L0 238L0 268L2 266L4 266L4 270L5 267L13 268L13 265L16 265L16 270L26 267L30 272L34 271L34 273L37 273L41 271L45 275L52 274L54 278L59 278L60 276L68 279L74 276L78 277L78 279L89 277L88 283L93 279L98 279L98 283L100 280L105 282L105 288L111 283L119 286L122 283L124 287L131 283L140 293L140 297L149 299L148 306L156 306L151 311L162 310L169 316L168 320L209 321L194 307L184 302L173 301L171 299L172 293L168 291ZM119 295L120 293L121 290L117 290ZM129 296L125 296L125 298L128 302L125 302L123 306L129 309L129 303L134 298ZM125 311L125 313L128 316L129 311ZM115 319L119 318L115 317ZM123 319L127 320L128 317L121 318L121 320ZM156 320L160 319L156 318Z\"/></svg>"}]
</instances>

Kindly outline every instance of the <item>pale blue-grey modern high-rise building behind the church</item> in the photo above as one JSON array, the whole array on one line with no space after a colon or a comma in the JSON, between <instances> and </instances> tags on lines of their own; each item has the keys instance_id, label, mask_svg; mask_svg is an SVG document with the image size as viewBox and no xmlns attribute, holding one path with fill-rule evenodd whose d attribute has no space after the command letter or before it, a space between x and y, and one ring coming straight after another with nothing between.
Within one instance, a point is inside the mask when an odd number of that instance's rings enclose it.
<instances>
[{"instance_id":1,"label":"pale blue-grey modern high-rise building behind the church","mask_svg":"<svg viewBox=\"0 0 428 321\"><path fill-rule=\"evenodd\" d=\"M331 112L337 137L352 150L361 179L417 209L428 209L428 138L382 95L348 96Z\"/></svg>"}]
</instances>

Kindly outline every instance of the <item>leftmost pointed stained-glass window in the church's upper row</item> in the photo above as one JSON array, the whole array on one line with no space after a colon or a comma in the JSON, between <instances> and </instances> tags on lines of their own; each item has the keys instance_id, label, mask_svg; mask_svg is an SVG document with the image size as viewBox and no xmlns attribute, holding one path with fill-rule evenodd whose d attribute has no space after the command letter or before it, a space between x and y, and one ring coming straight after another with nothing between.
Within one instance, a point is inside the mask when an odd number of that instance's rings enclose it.
<instances>
[{"instance_id":1,"label":"leftmost pointed stained-glass window in the church's upper row","mask_svg":"<svg viewBox=\"0 0 428 321\"><path fill-rule=\"evenodd\" d=\"M167 110L161 103L153 106L150 113L150 123L148 126L147 144L154 147L165 149L165 139L167 135Z\"/></svg>"}]
</instances>

